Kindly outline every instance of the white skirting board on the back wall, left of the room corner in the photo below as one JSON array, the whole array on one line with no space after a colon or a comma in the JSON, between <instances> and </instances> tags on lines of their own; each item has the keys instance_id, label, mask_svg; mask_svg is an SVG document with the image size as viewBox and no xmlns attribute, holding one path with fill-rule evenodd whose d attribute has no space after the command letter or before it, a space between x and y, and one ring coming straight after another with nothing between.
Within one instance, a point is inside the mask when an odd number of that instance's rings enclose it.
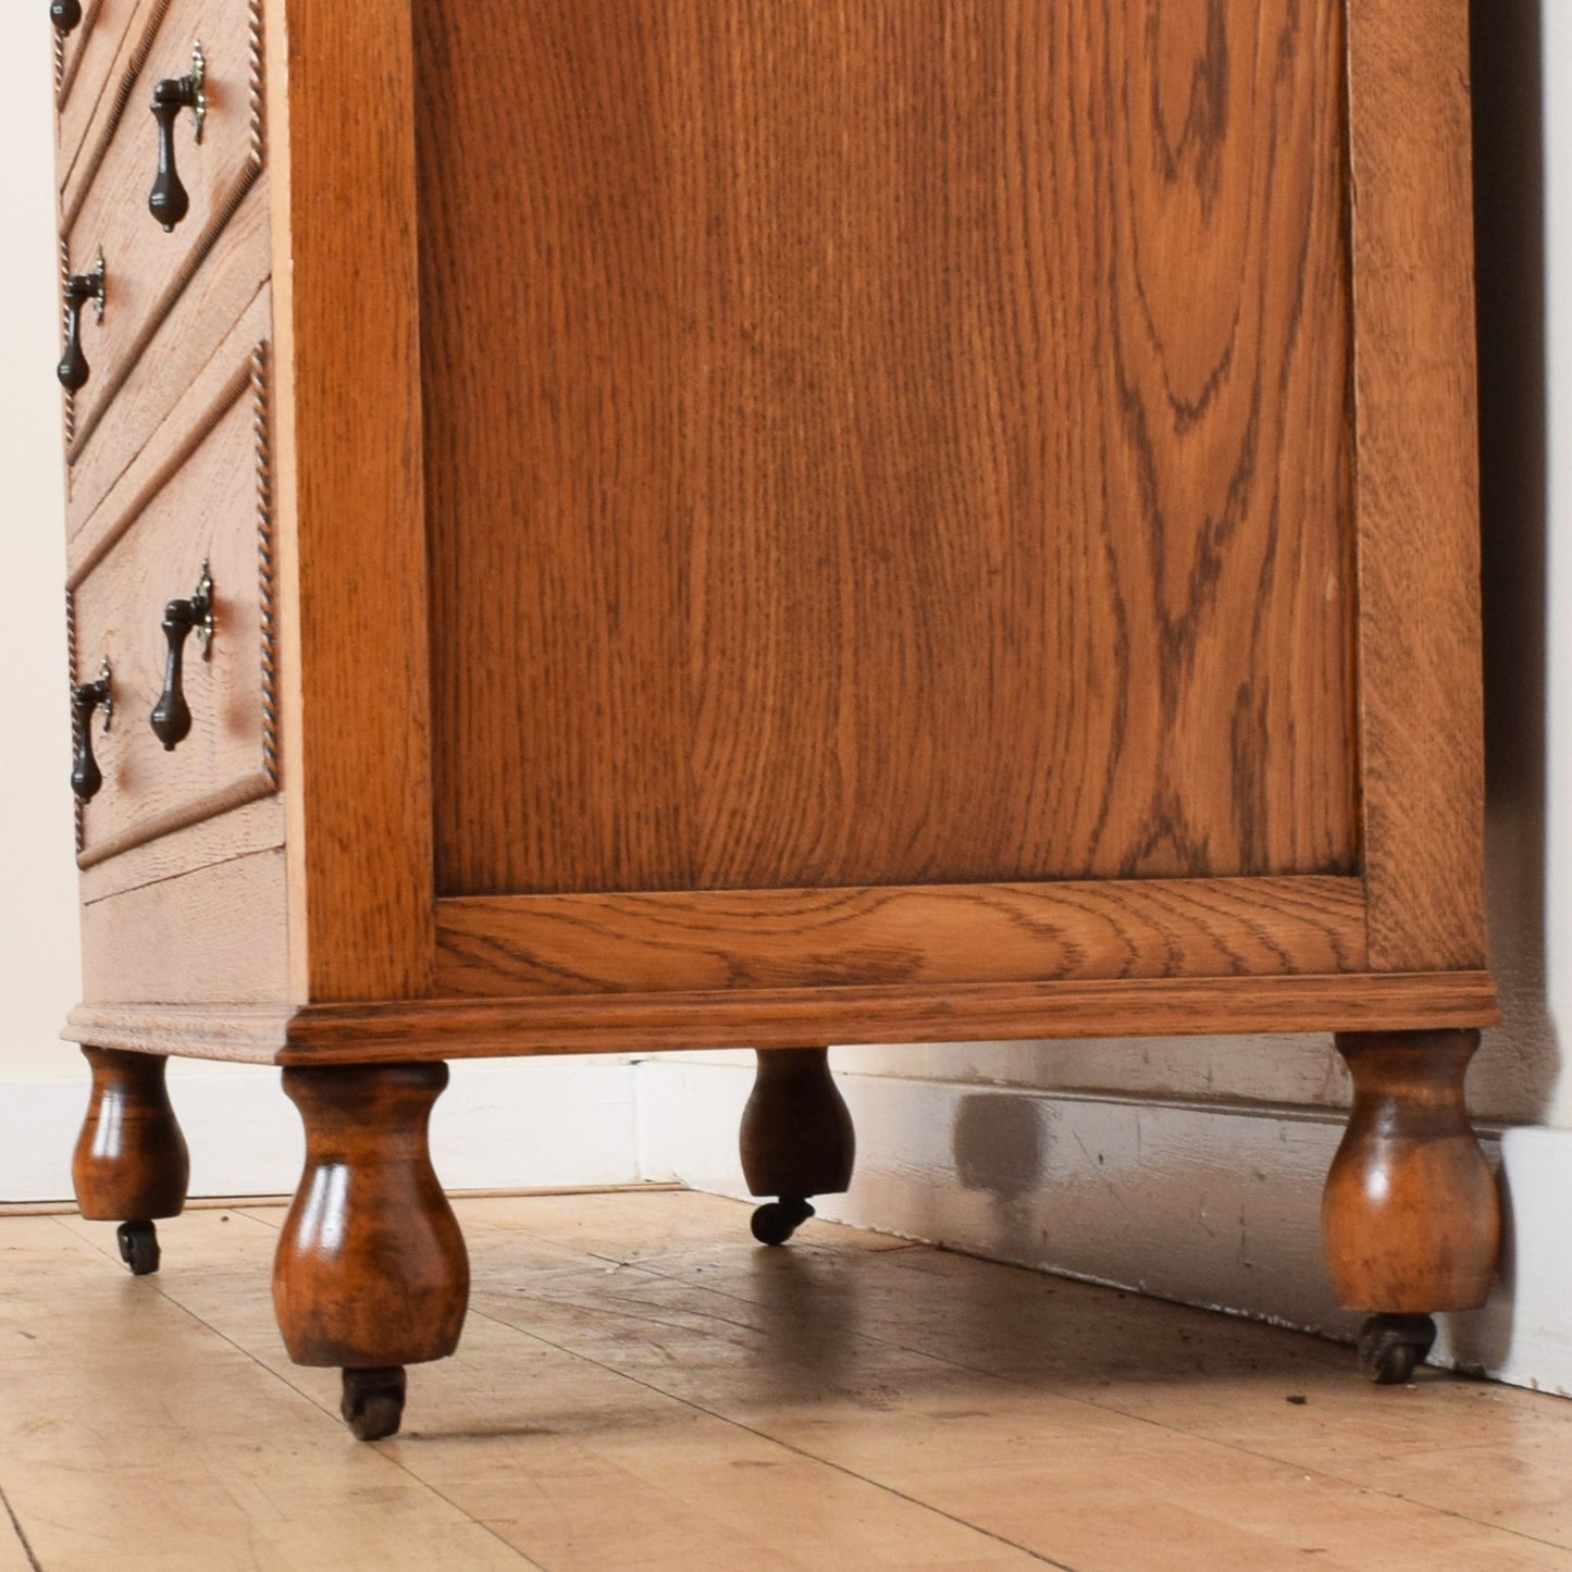
<instances>
[{"instance_id":1,"label":"white skirting board on the back wall, left of the room corner","mask_svg":"<svg viewBox=\"0 0 1572 1572\"><path fill-rule=\"evenodd\" d=\"M637 1074L627 1058L456 1063L431 1148L450 1190L634 1184ZM86 1107L79 1078L0 1082L0 1201L71 1196ZM288 1195L300 1177L300 1116L277 1071L171 1074L192 1152L192 1195Z\"/></svg>"}]
</instances>

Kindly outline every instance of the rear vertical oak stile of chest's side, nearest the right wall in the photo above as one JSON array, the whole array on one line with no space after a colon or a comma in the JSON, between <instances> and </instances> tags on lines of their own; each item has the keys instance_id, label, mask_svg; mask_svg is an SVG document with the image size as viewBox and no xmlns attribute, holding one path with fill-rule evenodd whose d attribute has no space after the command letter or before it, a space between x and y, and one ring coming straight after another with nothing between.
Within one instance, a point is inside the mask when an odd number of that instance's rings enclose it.
<instances>
[{"instance_id":1,"label":"rear vertical oak stile of chest's side, nearest the right wall","mask_svg":"<svg viewBox=\"0 0 1572 1572\"><path fill-rule=\"evenodd\" d=\"M1371 965L1484 960L1468 6L1349 6Z\"/></svg>"}]
</instances>

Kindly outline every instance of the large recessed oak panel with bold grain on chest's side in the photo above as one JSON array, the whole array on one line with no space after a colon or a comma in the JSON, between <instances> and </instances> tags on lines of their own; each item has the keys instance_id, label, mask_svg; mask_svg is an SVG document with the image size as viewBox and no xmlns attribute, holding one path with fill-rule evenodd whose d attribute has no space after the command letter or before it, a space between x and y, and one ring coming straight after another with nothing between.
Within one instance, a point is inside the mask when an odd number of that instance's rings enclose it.
<instances>
[{"instance_id":1,"label":"large recessed oak panel with bold grain on chest's side","mask_svg":"<svg viewBox=\"0 0 1572 1572\"><path fill-rule=\"evenodd\" d=\"M1341 6L415 33L439 893L1353 869Z\"/></svg>"}]
</instances>

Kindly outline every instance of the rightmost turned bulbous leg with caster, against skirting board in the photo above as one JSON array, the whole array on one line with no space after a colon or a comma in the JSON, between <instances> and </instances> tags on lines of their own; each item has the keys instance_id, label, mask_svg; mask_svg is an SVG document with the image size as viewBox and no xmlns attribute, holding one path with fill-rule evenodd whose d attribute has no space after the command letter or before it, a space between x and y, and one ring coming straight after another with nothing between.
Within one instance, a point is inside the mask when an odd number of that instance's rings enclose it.
<instances>
[{"instance_id":1,"label":"rightmost turned bulbous leg with caster, against skirting board","mask_svg":"<svg viewBox=\"0 0 1572 1572\"><path fill-rule=\"evenodd\" d=\"M1482 1305L1495 1278L1501 1206L1464 1105L1478 1045L1478 1031L1338 1036L1353 1108L1320 1229L1338 1302L1372 1313L1360 1364L1382 1385L1429 1353L1434 1311Z\"/></svg>"}]
</instances>

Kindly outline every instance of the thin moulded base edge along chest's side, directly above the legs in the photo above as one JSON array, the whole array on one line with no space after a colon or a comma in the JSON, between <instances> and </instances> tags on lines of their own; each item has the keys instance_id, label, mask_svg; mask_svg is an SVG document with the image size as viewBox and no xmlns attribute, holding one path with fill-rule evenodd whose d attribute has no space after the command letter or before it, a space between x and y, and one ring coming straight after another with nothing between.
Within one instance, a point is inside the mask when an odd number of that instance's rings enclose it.
<instances>
[{"instance_id":1,"label":"thin moulded base edge along chest's side, directly above the legs","mask_svg":"<svg viewBox=\"0 0 1572 1572\"><path fill-rule=\"evenodd\" d=\"M748 989L410 1005L313 1005L286 1064L803 1042L990 1042L1275 1031L1415 1031L1500 1020L1482 971L1320 978Z\"/></svg>"}]
</instances>

